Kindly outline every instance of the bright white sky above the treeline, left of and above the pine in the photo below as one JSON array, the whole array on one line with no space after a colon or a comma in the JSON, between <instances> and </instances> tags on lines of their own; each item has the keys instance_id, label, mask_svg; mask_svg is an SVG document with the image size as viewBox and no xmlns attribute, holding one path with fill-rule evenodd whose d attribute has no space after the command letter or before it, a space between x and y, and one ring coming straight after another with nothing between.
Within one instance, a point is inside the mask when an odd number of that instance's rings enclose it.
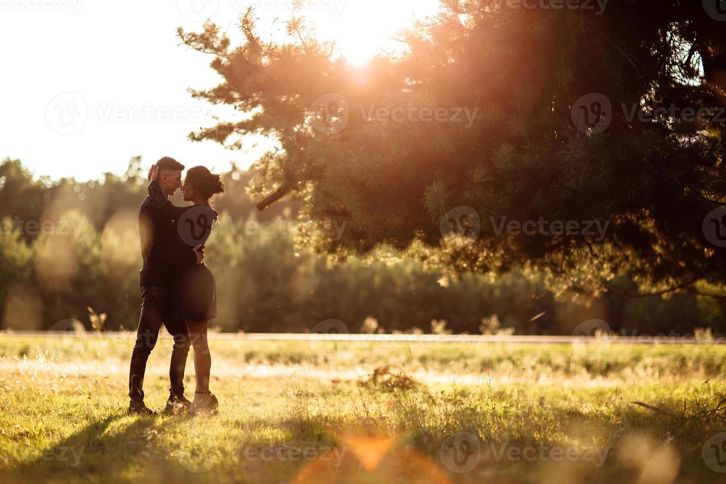
<instances>
[{"instance_id":1,"label":"bright white sky above the treeline, left of and above the pine","mask_svg":"<svg viewBox=\"0 0 726 484\"><path fill-rule=\"evenodd\" d=\"M0 0L0 158L20 158L36 175L96 179L123 173L131 156L187 166L246 168L269 143L244 152L187 134L212 126L224 107L196 102L187 87L219 78L211 57L179 46L176 28L199 31L211 17L237 36L248 5L260 28L290 16L293 0ZM438 0L303 0L319 38L335 38L354 62L381 48ZM385 13L384 13L385 12ZM261 32L269 30L261 30ZM234 41L233 41L234 44Z\"/></svg>"}]
</instances>

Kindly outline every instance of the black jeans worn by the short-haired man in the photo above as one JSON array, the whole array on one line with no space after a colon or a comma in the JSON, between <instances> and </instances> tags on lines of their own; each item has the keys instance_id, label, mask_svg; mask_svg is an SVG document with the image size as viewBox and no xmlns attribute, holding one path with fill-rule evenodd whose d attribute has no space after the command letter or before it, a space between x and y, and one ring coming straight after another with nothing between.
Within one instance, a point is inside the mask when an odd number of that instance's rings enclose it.
<instances>
[{"instance_id":1,"label":"black jeans worn by the short-haired man","mask_svg":"<svg viewBox=\"0 0 726 484\"><path fill-rule=\"evenodd\" d=\"M184 366L189 354L189 332L187 324L171 316L171 289L167 287L139 287L144 302L141 306L139 330L136 332L136 345L131 353L129 371L129 398L131 401L144 401L144 373L151 350L156 345L159 330L163 324L174 337L171 350L169 380L171 395L184 395Z\"/></svg>"}]
</instances>

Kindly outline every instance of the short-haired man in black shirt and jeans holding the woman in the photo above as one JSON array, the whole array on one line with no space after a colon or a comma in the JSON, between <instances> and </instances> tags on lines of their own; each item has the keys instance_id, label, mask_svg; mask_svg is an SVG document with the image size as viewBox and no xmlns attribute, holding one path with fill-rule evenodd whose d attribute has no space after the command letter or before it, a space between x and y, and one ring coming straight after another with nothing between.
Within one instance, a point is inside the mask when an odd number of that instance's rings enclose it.
<instances>
[{"instance_id":1,"label":"short-haired man in black shirt and jeans holding the woman","mask_svg":"<svg viewBox=\"0 0 726 484\"><path fill-rule=\"evenodd\" d=\"M158 183L168 197L181 188L181 171L184 165L171 157L163 157L156 165L160 168ZM180 264L202 263L204 247L184 249L176 243L178 234L168 218L146 197L139 208L139 232L144 266L139 276L139 291L143 303L136 332L136 345L131 354L129 371L129 414L155 415L144 404L144 372L151 350L154 349L163 324L174 337L169 366L169 398L165 413L179 413L189 409L191 402L184 398L184 366L189 353L189 334L186 324L172 316L172 284L174 268Z\"/></svg>"}]
</instances>

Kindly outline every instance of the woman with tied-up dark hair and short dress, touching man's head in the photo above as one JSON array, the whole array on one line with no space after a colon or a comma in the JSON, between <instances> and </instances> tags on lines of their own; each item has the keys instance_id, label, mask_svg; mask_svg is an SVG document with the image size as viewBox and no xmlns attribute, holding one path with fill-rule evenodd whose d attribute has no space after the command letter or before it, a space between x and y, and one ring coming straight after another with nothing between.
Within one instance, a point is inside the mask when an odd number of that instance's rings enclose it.
<instances>
[{"instance_id":1,"label":"woman with tied-up dark hair and short dress, touching man's head","mask_svg":"<svg viewBox=\"0 0 726 484\"><path fill-rule=\"evenodd\" d=\"M210 173L203 166L189 168L184 179L184 200L189 207L176 207L166 200L158 184L159 168L153 168L150 176L149 196L152 202L172 222L176 222L179 238L189 247L205 245L218 214L209 205L209 199L224 193L219 175ZM219 406L216 396L209 391L209 374L212 358L207 343L209 320L216 318L216 284L214 276L204 264L180 267L176 272L174 288L174 316L184 319L194 348L194 369L197 390L189 414L215 413Z\"/></svg>"}]
</instances>

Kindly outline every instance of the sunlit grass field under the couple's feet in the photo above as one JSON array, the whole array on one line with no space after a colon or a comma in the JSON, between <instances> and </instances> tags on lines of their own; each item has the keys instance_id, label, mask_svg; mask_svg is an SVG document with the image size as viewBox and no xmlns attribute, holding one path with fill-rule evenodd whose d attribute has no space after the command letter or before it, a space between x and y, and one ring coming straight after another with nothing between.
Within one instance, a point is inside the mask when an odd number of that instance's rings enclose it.
<instances>
[{"instance_id":1,"label":"sunlit grass field under the couple's feet","mask_svg":"<svg viewBox=\"0 0 726 484\"><path fill-rule=\"evenodd\" d=\"M0 336L3 483L726 482L723 345L217 337L195 419L126 415L132 345Z\"/></svg>"}]
</instances>

